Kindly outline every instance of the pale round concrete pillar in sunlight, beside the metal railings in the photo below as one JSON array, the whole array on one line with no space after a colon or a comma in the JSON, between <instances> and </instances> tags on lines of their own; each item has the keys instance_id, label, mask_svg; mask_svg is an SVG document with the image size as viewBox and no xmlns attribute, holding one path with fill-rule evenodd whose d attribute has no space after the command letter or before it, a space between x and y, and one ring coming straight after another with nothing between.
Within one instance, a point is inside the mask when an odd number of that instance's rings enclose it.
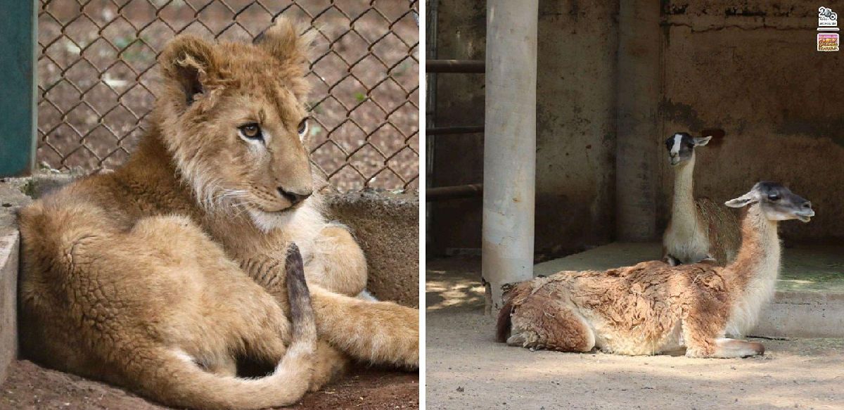
<instances>
[{"instance_id":1,"label":"pale round concrete pillar in sunlight, beside the metal railings","mask_svg":"<svg viewBox=\"0 0 844 410\"><path fill-rule=\"evenodd\" d=\"M501 285L533 278L538 0L486 8L483 276L487 306Z\"/></svg>"}]
</instances>

